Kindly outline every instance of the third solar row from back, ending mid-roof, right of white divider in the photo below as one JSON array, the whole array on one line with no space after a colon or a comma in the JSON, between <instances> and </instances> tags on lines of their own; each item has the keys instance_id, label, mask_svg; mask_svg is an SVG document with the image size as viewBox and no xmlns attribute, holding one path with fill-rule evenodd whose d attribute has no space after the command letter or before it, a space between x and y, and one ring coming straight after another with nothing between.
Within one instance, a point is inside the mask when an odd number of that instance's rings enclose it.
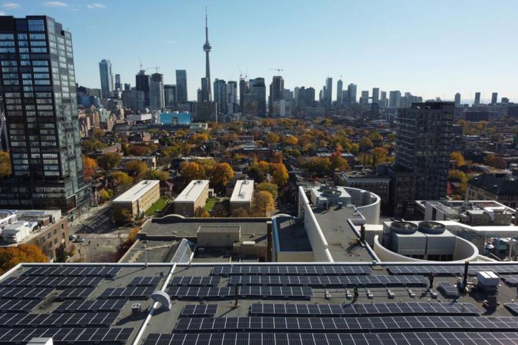
<instances>
[{"instance_id":1,"label":"third solar row from back, ending mid-roof, right of white divider","mask_svg":"<svg viewBox=\"0 0 518 345\"><path fill-rule=\"evenodd\" d=\"M222 288L185 288L171 287L168 290L171 297L188 297L196 299L206 298L234 298L236 288L224 286ZM311 288L305 286L238 286L238 295L242 298L282 297L292 299L309 299L313 295Z\"/></svg>"}]
</instances>

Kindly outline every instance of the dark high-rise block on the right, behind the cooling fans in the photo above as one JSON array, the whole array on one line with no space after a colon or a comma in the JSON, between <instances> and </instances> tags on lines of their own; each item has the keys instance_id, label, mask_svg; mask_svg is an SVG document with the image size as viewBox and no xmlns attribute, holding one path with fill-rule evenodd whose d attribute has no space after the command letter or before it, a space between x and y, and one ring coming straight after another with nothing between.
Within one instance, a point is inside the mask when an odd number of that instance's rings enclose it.
<instances>
[{"instance_id":1,"label":"dark high-rise block on the right, behind the cooling fans","mask_svg":"<svg viewBox=\"0 0 518 345\"><path fill-rule=\"evenodd\" d=\"M411 215L414 200L446 197L453 102L413 103L396 116L396 161L389 169L395 215Z\"/></svg>"}]
</instances>

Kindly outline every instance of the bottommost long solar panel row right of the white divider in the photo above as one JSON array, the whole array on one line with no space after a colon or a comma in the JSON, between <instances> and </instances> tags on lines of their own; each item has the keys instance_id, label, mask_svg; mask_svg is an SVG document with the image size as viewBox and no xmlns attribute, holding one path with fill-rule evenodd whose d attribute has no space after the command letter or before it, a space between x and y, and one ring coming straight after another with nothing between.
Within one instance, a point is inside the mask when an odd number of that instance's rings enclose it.
<instances>
[{"instance_id":1,"label":"bottommost long solar panel row right of the white divider","mask_svg":"<svg viewBox=\"0 0 518 345\"><path fill-rule=\"evenodd\" d=\"M419 332L419 333L150 333L143 345L177 344L517 344L518 333Z\"/></svg>"}]
</instances>

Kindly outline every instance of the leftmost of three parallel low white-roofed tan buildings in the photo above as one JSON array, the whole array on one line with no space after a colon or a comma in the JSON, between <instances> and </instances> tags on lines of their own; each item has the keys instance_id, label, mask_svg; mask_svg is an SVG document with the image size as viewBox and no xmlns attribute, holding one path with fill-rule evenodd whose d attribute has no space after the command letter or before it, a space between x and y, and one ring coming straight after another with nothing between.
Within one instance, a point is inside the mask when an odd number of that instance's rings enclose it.
<instances>
[{"instance_id":1,"label":"leftmost of three parallel low white-roofed tan buildings","mask_svg":"<svg viewBox=\"0 0 518 345\"><path fill-rule=\"evenodd\" d=\"M114 210L126 208L133 217L142 215L160 199L160 181L144 179L112 201Z\"/></svg>"}]
</instances>

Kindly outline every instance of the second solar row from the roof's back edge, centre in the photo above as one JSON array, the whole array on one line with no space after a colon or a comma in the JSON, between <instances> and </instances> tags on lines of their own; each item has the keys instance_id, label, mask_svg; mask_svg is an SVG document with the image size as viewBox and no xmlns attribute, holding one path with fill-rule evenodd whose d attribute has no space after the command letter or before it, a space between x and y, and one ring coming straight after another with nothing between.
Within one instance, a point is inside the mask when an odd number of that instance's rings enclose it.
<instances>
[{"instance_id":1,"label":"second solar row from the roof's back edge, centre","mask_svg":"<svg viewBox=\"0 0 518 345\"><path fill-rule=\"evenodd\" d=\"M422 275L357 275L357 276L297 276L297 275L236 275L230 285L282 285L282 286L427 286Z\"/></svg>"}]
</instances>

